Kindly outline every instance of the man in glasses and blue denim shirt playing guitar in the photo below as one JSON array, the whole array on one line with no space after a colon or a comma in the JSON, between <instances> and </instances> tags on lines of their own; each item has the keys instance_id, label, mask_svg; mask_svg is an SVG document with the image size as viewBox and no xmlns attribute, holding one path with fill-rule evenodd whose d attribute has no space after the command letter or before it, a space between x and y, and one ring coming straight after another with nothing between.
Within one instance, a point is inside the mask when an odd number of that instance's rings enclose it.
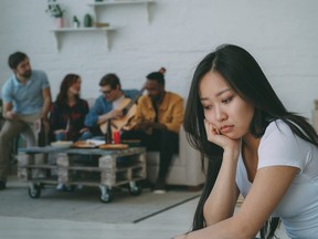
<instances>
[{"instance_id":1,"label":"man in glasses and blue denim shirt playing guitar","mask_svg":"<svg viewBox=\"0 0 318 239\"><path fill-rule=\"evenodd\" d=\"M139 93L137 90L123 91L118 76L112 73L102 77L99 86L103 95L96 98L85 117L85 125L93 129L94 136L105 133L105 123L108 119L123 117L126 100L134 98Z\"/></svg>"}]
</instances>

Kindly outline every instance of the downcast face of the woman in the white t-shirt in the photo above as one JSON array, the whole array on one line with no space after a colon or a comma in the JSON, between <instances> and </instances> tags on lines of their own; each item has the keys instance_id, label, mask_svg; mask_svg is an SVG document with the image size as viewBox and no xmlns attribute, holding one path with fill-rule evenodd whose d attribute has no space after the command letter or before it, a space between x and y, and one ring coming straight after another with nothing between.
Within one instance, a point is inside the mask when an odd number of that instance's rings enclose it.
<instances>
[{"instance_id":1,"label":"downcast face of the woman in the white t-shirt","mask_svg":"<svg viewBox=\"0 0 318 239\"><path fill-rule=\"evenodd\" d=\"M199 83L199 95L205 119L222 135L239 139L248 133L254 106L243 101L221 74L206 73Z\"/></svg>"}]
</instances>

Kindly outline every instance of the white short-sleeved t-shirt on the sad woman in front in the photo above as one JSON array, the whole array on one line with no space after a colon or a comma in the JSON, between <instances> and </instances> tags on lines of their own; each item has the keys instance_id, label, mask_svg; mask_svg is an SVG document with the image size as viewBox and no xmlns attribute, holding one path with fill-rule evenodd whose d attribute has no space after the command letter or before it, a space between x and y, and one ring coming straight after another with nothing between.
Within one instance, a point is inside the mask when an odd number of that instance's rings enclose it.
<instances>
[{"instance_id":1,"label":"white short-sleeved t-shirt on the sad woman in front","mask_svg":"<svg viewBox=\"0 0 318 239\"><path fill-rule=\"evenodd\" d=\"M290 238L318 238L318 148L277 119L267 126L258 147L257 168L269 166L299 168L273 216L282 218ZM252 184L242 155L237 163L236 184L245 197Z\"/></svg>"}]
</instances>

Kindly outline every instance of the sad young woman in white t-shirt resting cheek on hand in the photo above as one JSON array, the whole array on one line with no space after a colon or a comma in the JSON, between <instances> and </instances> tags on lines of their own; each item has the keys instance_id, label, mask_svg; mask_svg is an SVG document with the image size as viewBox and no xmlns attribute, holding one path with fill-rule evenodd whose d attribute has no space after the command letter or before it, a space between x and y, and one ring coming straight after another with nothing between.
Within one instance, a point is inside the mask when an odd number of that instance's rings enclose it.
<instances>
[{"instance_id":1,"label":"sad young woman in white t-shirt resting cheek on hand","mask_svg":"<svg viewBox=\"0 0 318 239\"><path fill-rule=\"evenodd\" d=\"M192 231L176 238L274 238L280 219L290 238L317 237L318 136L247 51L221 45L199 63L183 125L208 170Z\"/></svg>"}]
</instances>

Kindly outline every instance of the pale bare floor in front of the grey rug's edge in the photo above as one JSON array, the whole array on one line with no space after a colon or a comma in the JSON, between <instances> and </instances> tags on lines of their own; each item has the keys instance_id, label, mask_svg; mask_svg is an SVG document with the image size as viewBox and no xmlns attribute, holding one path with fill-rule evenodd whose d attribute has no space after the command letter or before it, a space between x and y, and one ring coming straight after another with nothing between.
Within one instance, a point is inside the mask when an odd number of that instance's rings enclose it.
<instances>
[{"instance_id":1,"label":"pale bare floor in front of the grey rug's edge","mask_svg":"<svg viewBox=\"0 0 318 239\"><path fill-rule=\"evenodd\" d=\"M19 216L0 216L0 238L170 239L172 236L184 232L190 228L197 202L198 199L193 199L138 224L125 225L40 220L21 218ZM278 235L280 239L287 238L282 231L279 231Z\"/></svg>"}]
</instances>

